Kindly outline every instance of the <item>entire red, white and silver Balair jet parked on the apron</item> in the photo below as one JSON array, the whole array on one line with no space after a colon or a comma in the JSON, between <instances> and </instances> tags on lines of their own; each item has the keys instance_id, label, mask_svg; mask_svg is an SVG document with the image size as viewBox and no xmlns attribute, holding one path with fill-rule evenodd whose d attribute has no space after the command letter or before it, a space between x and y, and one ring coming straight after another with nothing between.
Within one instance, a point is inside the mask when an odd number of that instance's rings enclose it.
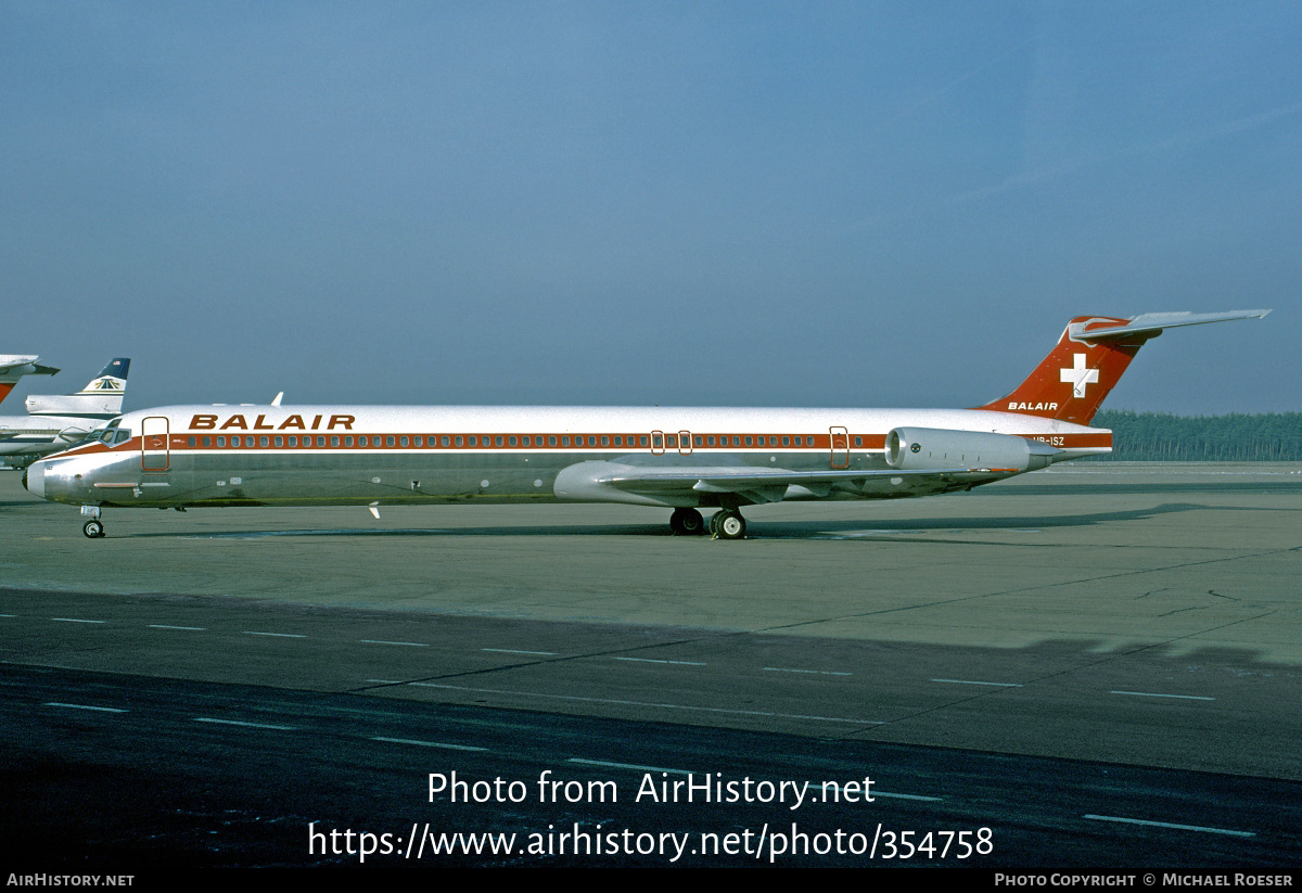
<instances>
[{"instance_id":1,"label":"entire red, white and silver Balair jet parked on the apron","mask_svg":"<svg viewBox=\"0 0 1302 893\"><path fill-rule=\"evenodd\" d=\"M898 499L1112 450L1088 427L1163 329L1268 310L1079 316L1008 397L967 410L586 406L168 406L34 462L36 496L105 506L624 502L674 532L741 539L747 505Z\"/></svg>"}]
</instances>

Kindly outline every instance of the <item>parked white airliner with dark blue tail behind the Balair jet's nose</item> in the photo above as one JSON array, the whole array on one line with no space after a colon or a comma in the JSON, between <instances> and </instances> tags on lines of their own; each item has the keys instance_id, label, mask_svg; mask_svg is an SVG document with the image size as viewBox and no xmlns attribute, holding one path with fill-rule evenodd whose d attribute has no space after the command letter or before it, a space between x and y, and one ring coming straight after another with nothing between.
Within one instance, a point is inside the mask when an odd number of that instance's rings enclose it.
<instances>
[{"instance_id":1,"label":"parked white airliner with dark blue tail behind the Balair jet's nose","mask_svg":"<svg viewBox=\"0 0 1302 893\"><path fill-rule=\"evenodd\" d=\"M22 467L85 440L117 418L130 366L126 357L111 359L77 393L31 394L26 415L0 417L0 462Z\"/></svg>"}]
</instances>

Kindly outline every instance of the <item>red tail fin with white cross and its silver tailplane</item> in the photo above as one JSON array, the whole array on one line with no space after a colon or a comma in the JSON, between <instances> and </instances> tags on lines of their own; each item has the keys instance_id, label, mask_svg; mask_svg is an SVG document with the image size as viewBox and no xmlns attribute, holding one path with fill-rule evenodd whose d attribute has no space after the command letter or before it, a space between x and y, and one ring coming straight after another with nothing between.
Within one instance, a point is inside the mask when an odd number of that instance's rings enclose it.
<instances>
[{"instance_id":1,"label":"red tail fin with white cross and its silver tailplane","mask_svg":"<svg viewBox=\"0 0 1302 893\"><path fill-rule=\"evenodd\" d=\"M1131 319L1077 316L1035 371L1013 393L978 406L1088 424L1139 348L1163 329L1230 319L1254 319L1269 310L1220 314L1144 314Z\"/></svg>"}]
</instances>

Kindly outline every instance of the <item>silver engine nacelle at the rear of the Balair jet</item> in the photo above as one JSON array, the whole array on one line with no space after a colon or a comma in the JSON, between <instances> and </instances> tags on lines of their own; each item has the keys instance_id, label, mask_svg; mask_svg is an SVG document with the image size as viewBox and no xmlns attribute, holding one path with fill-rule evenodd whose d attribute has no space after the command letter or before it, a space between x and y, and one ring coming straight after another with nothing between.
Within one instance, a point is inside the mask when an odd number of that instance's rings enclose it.
<instances>
[{"instance_id":1,"label":"silver engine nacelle at the rear of the Balair jet","mask_svg":"<svg viewBox=\"0 0 1302 893\"><path fill-rule=\"evenodd\" d=\"M1008 433L948 428L894 428L887 435L887 465L902 471L926 469L1001 469L1034 471L1053 462L1061 449Z\"/></svg>"}]
</instances>

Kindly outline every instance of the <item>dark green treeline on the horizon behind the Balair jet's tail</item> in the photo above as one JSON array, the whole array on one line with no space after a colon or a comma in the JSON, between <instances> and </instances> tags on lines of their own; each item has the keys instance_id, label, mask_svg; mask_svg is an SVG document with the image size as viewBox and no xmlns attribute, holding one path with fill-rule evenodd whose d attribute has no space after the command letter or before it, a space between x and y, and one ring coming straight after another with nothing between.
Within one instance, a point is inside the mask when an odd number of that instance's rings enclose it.
<instances>
[{"instance_id":1,"label":"dark green treeline on the horizon behind the Balair jet's tail","mask_svg":"<svg viewBox=\"0 0 1302 893\"><path fill-rule=\"evenodd\" d=\"M1302 413L1169 415L1103 410L1090 423L1112 428L1112 456L1129 462L1302 461Z\"/></svg>"}]
</instances>

